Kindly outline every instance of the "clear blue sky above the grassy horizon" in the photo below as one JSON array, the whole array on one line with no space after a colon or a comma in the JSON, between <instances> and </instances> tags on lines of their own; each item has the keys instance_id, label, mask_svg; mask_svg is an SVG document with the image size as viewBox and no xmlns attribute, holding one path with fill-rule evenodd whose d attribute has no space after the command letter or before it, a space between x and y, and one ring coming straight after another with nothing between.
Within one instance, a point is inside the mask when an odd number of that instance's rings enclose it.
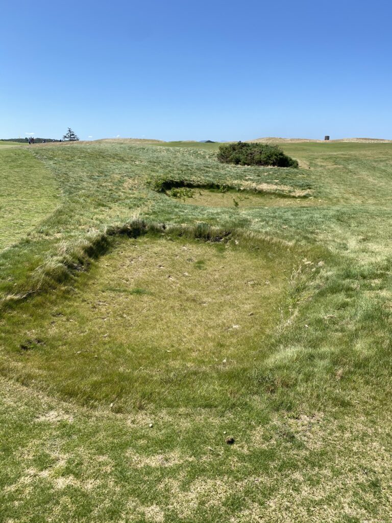
<instances>
[{"instance_id":1,"label":"clear blue sky above the grassy horizon","mask_svg":"<svg viewBox=\"0 0 392 523\"><path fill-rule=\"evenodd\" d=\"M2 2L0 138L392 139L390 2Z\"/></svg>"}]
</instances>

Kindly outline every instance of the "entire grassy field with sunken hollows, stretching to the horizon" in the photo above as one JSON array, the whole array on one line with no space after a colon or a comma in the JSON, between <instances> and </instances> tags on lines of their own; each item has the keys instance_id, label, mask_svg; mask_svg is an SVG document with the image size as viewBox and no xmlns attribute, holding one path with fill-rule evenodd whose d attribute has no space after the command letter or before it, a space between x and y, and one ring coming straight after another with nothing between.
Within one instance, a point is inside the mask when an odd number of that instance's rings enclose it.
<instances>
[{"instance_id":1,"label":"entire grassy field with sunken hollows, stretching to the horizon","mask_svg":"<svg viewBox=\"0 0 392 523\"><path fill-rule=\"evenodd\" d=\"M217 147L0 152L0 521L392 520L392 146Z\"/></svg>"}]
</instances>

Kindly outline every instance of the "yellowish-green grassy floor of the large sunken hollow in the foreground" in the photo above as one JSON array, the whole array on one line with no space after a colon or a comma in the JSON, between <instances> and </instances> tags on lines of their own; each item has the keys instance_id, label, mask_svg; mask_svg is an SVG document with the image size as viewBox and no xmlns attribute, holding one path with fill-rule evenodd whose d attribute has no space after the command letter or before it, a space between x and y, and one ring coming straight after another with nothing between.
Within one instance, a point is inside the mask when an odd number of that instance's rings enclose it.
<instances>
[{"instance_id":1,"label":"yellowish-green grassy floor of the large sunken hollow in the foreground","mask_svg":"<svg viewBox=\"0 0 392 523\"><path fill-rule=\"evenodd\" d=\"M8 315L3 374L120 412L225 404L279 322L295 257L260 242L248 249L147 235L115 243L71 296Z\"/></svg>"}]
</instances>

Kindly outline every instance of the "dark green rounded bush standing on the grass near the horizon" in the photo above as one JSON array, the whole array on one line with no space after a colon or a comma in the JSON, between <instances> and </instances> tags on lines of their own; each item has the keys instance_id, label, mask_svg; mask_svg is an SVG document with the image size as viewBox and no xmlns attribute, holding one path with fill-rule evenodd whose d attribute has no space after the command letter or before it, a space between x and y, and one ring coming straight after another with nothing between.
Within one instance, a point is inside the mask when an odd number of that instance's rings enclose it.
<instances>
[{"instance_id":1,"label":"dark green rounded bush standing on the grass near the horizon","mask_svg":"<svg viewBox=\"0 0 392 523\"><path fill-rule=\"evenodd\" d=\"M277 145L267 143L228 143L219 147L218 160L235 165L271 165L298 167L298 162L284 154Z\"/></svg>"}]
</instances>

